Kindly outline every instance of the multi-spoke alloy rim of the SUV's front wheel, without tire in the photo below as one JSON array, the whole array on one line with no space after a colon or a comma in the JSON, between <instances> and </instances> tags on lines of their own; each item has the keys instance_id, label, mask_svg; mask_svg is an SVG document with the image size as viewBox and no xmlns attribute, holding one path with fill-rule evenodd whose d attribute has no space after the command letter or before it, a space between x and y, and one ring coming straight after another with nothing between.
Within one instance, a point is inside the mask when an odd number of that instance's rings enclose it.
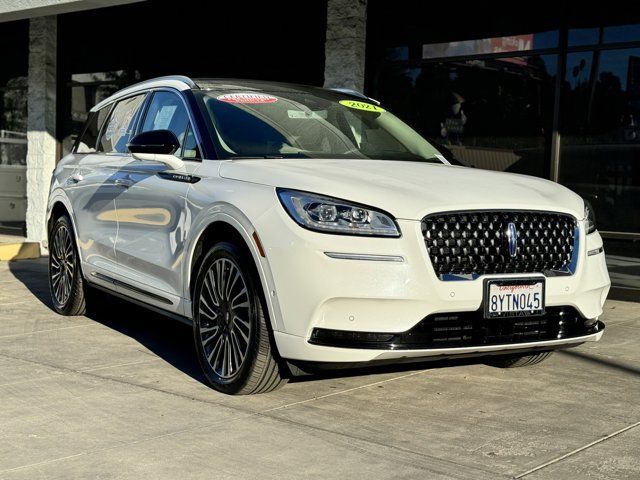
<instances>
[{"instance_id":1,"label":"multi-spoke alloy rim of the SUV's front wheel, without tire","mask_svg":"<svg viewBox=\"0 0 640 480\"><path fill-rule=\"evenodd\" d=\"M210 266L198 300L198 336L206 360L223 381L237 376L251 344L253 314L239 267L227 258Z\"/></svg>"}]
</instances>

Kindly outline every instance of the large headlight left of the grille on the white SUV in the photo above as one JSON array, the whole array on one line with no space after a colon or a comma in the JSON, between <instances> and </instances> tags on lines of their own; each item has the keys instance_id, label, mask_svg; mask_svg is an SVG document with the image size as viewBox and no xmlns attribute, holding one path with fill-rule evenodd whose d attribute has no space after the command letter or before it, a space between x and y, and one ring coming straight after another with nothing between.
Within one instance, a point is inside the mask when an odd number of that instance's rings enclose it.
<instances>
[{"instance_id":1,"label":"large headlight left of the grille on the white SUV","mask_svg":"<svg viewBox=\"0 0 640 480\"><path fill-rule=\"evenodd\" d=\"M315 193L278 188L285 210L297 223L310 230L369 237L399 237L393 217L364 205Z\"/></svg>"}]
</instances>

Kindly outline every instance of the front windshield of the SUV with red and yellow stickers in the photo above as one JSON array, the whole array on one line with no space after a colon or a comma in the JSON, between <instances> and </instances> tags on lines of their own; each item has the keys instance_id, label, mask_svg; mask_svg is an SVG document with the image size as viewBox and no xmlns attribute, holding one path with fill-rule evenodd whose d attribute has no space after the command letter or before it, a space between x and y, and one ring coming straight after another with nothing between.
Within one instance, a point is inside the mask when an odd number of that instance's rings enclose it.
<instances>
[{"instance_id":1,"label":"front windshield of the SUV with red and yellow stickers","mask_svg":"<svg viewBox=\"0 0 640 480\"><path fill-rule=\"evenodd\" d=\"M384 106L313 87L196 91L222 158L344 158L445 163Z\"/></svg>"}]
</instances>

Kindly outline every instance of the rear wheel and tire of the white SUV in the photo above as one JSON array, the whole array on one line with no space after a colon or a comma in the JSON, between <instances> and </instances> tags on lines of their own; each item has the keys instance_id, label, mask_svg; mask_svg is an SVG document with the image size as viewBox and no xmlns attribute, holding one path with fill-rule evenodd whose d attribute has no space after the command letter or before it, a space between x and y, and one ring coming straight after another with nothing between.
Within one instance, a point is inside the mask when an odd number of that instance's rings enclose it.
<instances>
[{"instance_id":1,"label":"rear wheel and tire of the white SUV","mask_svg":"<svg viewBox=\"0 0 640 480\"><path fill-rule=\"evenodd\" d=\"M84 315L88 287L82 278L73 226L67 215L55 220L49 239L49 290L53 309L60 315Z\"/></svg>"}]
</instances>

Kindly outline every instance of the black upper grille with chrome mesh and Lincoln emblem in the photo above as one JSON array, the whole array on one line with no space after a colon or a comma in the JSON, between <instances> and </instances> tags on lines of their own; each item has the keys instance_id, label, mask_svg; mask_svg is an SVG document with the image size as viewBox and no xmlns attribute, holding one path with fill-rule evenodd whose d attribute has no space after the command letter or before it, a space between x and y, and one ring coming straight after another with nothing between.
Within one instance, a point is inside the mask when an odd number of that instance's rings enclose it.
<instances>
[{"instance_id":1,"label":"black upper grille with chrome mesh and Lincoln emblem","mask_svg":"<svg viewBox=\"0 0 640 480\"><path fill-rule=\"evenodd\" d=\"M509 224L515 228L511 251ZM442 280L496 273L573 273L577 222L570 215L533 211L439 213L422 220L422 234L433 269Z\"/></svg>"}]
</instances>

